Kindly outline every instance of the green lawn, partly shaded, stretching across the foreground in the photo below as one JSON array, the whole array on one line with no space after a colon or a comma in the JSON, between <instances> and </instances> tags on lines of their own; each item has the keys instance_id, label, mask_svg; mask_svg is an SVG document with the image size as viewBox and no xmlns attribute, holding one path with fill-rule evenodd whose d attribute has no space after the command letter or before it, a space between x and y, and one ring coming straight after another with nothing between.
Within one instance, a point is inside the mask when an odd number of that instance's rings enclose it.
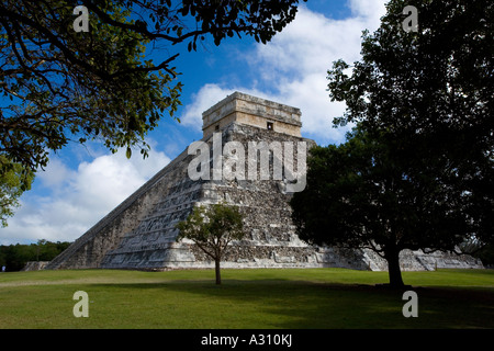
<instances>
[{"instance_id":1,"label":"green lawn, partly shaded, stretching across the foreground","mask_svg":"<svg viewBox=\"0 0 494 351\"><path fill-rule=\"evenodd\" d=\"M0 274L0 328L494 328L494 271L404 272L418 294L405 318L386 272L344 269ZM76 291L89 317L76 318Z\"/></svg>"}]
</instances>

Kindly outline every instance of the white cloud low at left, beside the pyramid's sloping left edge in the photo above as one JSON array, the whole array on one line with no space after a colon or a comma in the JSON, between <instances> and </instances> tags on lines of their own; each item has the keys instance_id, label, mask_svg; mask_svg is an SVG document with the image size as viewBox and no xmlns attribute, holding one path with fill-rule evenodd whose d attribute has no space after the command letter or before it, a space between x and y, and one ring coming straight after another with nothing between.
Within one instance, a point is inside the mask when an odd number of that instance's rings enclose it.
<instances>
[{"instance_id":1,"label":"white cloud low at left, beside the pyramid's sloping left edge","mask_svg":"<svg viewBox=\"0 0 494 351\"><path fill-rule=\"evenodd\" d=\"M9 226L0 229L0 244L75 240L169 162L164 152L151 150L143 160L137 155L127 159L120 151L72 170L52 157L36 179L49 195L26 192Z\"/></svg>"}]
</instances>

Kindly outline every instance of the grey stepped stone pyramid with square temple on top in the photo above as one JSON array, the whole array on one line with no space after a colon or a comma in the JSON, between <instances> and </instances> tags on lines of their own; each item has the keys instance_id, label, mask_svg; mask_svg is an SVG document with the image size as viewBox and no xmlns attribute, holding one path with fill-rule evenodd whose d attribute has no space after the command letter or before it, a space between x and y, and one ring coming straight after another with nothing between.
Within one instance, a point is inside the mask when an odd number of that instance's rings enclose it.
<instances>
[{"instance_id":1,"label":"grey stepped stone pyramid with square temple on top","mask_svg":"<svg viewBox=\"0 0 494 351\"><path fill-rule=\"evenodd\" d=\"M296 236L289 200L293 191L303 191L301 180L293 177L295 169L305 166L299 162L297 156L304 150L297 146L314 145L301 136L299 109L235 92L205 111L202 117L200 146L202 151L209 150L206 156L202 155L202 163L197 150L186 149L45 269L212 268L214 262L192 241L176 241L176 224L186 219L194 205L226 202L239 206L246 237L231 245L223 268L386 270L385 261L372 251L310 246ZM258 151L260 155L257 167L249 163L251 155L246 158L239 150L247 152L249 147L259 145L268 148L255 149L256 159ZM280 147L282 152L278 152ZM263 151L268 168L266 163L262 166ZM220 171L214 177L217 170L214 152L221 152L223 165L235 165L231 176L248 174L226 177ZM290 152L292 173L280 160ZM282 173L277 169L280 165L283 165ZM296 185L302 186L296 189ZM422 251L402 252L401 264L403 270L482 268L480 261L469 256Z\"/></svg>"}]
</instances>

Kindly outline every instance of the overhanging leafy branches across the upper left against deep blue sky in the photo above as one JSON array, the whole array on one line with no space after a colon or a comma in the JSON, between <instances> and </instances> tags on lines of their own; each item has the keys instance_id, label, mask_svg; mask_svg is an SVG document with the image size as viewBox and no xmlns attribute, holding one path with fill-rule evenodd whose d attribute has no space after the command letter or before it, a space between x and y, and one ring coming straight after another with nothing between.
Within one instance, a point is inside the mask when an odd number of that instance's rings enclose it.
<instances>
[{"instance_id":1,"label":"overhanging leafy branches across the upper left against deep blue sky","mask_svg":"<svg viewBox=\"0 0 494 351\"><path fill-rule=\"evenodd\" d=\"M74 1L2 1L0 155L33 172L70 140L146 156L147 133L180 105L173 45L192 50L207 36L220 45L234 34L266 43L294 19L297 2L81 0L83 32ZM155 65L146 48L165 57Z\"/></svg>"}]
</instances>

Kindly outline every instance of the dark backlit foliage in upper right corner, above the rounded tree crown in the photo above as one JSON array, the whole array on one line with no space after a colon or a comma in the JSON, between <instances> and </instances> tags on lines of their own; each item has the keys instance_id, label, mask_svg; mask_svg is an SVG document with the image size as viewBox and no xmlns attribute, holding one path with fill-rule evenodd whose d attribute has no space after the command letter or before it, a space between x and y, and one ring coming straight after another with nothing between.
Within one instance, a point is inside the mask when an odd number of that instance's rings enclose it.
<instances>
[{"instance_id":1,"label":"dark backlit foliage in upper right corner, above the rounded tree crown","mask_svg":"<svg viewBox=\"0 0 494 351\"><path fill-rule=\"evenodd\" d=\"M405 5L418 9L416 33L402 27ZM364 33L351 76L341 60L328 71L332 100L347 104L336 123L385 132L415 169L436 165L468 195L483 242L494 239L493 23L489 0L393 0L380 29Z\"/></svg>"}]
</instances>

